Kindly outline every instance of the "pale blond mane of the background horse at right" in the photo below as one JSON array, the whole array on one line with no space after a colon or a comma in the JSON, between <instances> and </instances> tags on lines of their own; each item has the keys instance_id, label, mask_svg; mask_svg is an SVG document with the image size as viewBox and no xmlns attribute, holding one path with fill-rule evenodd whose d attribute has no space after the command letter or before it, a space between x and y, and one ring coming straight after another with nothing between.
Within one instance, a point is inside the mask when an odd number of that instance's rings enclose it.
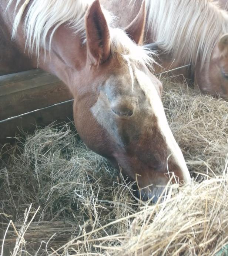
<instances>
[{"instance_id":1,"label":"pale blond mane of the background horse at right","mask_svg":"<svg viewBox=\"0 0 228 256\"><path fill-rule=\"evenodd\" d=\"M211 58L222 34L228 33L228 14L212 0L147 0L147 29L161 49L182 64Z\"/></svg>"}]
</instances>

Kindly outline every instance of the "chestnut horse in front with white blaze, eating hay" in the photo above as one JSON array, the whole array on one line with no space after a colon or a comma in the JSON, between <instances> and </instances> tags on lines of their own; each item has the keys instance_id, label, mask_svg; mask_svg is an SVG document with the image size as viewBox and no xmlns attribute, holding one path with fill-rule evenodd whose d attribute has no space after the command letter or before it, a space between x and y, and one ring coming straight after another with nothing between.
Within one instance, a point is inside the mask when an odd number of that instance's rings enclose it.
<instances>
[{"instance_id":1,"label":"chestnut horse in front with white blaze, eating hay","mask_svg":"<svg viewBox=\"0 0 228 256\"><path fill-rule=\"evenodd\" d=\"M139 194L153 201L170 172L190 181L165 117L162 84L148 69L151 53L140 46L144 2L125 31L111 26L99 0L6 2L0 1L4 30L13 31L24 58L70 88L74 122L89 148L137 179Z\"/></svg>"}]
</instances>

